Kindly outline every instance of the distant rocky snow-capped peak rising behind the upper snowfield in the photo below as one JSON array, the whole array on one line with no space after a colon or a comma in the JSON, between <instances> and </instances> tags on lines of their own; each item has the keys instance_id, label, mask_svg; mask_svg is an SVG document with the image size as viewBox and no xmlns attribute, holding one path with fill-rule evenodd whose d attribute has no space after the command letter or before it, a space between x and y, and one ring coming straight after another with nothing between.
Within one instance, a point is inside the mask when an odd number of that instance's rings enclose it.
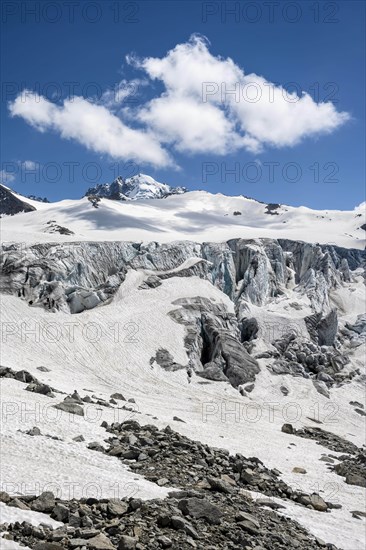
<instances>
[{"instance_id":1,"label":"distant rocky snow-capped peak rising behind the upper snowfield","mask_svg":"<svg viewBox=\"0 0 366 550\"><path fill-rule=\"evenodd\" d=\"M90 187L85 196L95 195L100 198L112 200L140 200L140 199L164 199L170 195L185 193L185 187L171 187L167 183L160 183L147 174L137 174L124 179L117 176L112 183L98 184Z\"/></svg>"}]
</instances>

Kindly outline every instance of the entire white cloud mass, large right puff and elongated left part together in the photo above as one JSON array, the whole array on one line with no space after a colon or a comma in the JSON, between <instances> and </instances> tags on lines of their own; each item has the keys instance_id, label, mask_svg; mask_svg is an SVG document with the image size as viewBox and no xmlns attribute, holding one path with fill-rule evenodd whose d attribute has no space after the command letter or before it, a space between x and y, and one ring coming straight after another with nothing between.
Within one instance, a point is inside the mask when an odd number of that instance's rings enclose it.
<instances>
[{"instance_id":1,"label":"entire white cloud mass, large right puff and elongated left part together","mask_svg":"<svg viewBox=\"0 0 366 550\"><path fill-rule=\"evenodd\" d=\"M232 59L212 55L201 36L161 58L126 59L143 78L122 80L99 102L73 97L58 105L25 90L10 112L41 132L54 130L97 153L156 167L173 166L174 151L257 154L265 147L292 147L350 118L330 102L316 103L304 92L289 93L263 76L245 74ZM164 90L143 102L140 92L153 81ZM135 105L126 106L137 96Z\"/></svg>"}]
</instances>

